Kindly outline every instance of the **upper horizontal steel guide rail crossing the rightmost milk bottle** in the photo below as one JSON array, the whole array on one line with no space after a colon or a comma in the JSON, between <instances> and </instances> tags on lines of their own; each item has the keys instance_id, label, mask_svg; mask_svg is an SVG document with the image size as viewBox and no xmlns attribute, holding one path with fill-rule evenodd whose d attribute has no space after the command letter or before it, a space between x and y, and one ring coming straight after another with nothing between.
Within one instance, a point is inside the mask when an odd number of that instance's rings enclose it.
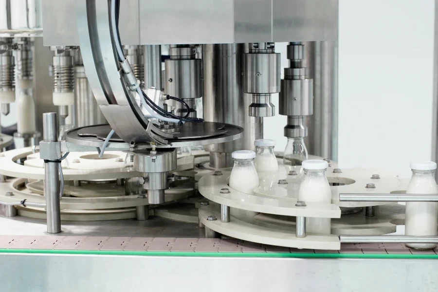
<instances>
[{"instance_id":1,"label":"upper horizontal steel guide rail crossing the rightmost milk bottle","mask_svg":"<svg viewBox=\"0 0 438 292\"><path fill-rule=\"evenodd\" d=\"M350 202L438 202L438 195L421 194L339 194L339 201Z\"/></svg>"}]
</instances>

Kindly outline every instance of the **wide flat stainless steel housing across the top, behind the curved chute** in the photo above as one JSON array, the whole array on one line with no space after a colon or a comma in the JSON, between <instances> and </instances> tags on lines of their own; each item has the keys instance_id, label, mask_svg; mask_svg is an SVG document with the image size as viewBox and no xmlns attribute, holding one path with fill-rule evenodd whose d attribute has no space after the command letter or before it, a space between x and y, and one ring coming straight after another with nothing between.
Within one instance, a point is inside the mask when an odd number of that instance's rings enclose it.
<instances>
[{"instance_id":1,"label":"wide flat stainless steel housing across the top, behind the curved chute","mask_svg":"<svg viewBox=\"0 0 438 292\"><path fill-rule=\"evenodd\" d=\"M78 32L72 29L77 25L75 1L42 2L45 45L78 45ZM338 37L338 0L125 0L120 6L119 30L124 45Z\"/></svg>"}]
</instances>

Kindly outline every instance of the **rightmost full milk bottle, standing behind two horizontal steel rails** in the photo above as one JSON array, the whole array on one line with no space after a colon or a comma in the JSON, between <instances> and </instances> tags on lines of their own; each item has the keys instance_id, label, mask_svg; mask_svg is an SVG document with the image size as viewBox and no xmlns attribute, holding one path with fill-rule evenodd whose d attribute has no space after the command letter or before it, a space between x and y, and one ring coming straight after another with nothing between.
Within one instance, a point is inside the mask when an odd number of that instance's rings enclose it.
<instances>
[{"instance_id":1,"label":"rightmost full milk bottle, standing behind two horizontal steel rails","mask_svg":"<svg viewBox=\"0 0 438 292\"><path fill-rule=\"evenodd\" d=\"M406 194L438 194L435 182L437 164L431 161L411 163L412 178ZM438 202L406 202L405 235L438 235ZM414 249L433 249L436 243L406 243Z\"/></svg>"}]
</instances>

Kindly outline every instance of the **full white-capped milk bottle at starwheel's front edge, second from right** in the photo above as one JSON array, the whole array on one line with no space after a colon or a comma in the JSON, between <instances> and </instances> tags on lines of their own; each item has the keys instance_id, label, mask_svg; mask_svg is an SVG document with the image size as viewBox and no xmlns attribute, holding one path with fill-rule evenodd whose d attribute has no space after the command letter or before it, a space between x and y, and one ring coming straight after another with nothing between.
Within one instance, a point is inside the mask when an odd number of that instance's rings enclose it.
<instances>
[{"instance_id":1,"label":"full white-capped milk bottle at starwheel's front edge, second from right","mask_svg":"<svg viewBox=\"0 0 438 292\"><path fill-rule=\"evenodd\" d=\"M324 160L306 160L301 164L304 178L298 191L298 200L306 203L331 203L329 181L326 169L329 166ZM309 233L330 234L330 218L306 219L306 231Z\"/></svg>"}]
</instances>

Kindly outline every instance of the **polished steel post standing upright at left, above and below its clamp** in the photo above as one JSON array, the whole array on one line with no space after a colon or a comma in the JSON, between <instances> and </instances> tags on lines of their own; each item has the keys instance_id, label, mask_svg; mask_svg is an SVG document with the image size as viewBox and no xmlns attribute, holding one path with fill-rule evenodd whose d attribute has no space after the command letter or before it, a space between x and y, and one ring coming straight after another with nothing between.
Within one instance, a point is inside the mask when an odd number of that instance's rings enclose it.
<instances>
[{"instance_id":1,"label":"polished steel post standing upright at left, above and below its clamp","mask_svg":"<svg viewBox=\"0 0 438 292\"><path fill-rule=\"evenodd\" d=\"M43 114L44 142L56 142L58 136L57 116L55 112ZM47 232L61 232L61 207L59 204L58 162L44 164L44 196L46 197Z\"/></svg>"}]
</instances>

